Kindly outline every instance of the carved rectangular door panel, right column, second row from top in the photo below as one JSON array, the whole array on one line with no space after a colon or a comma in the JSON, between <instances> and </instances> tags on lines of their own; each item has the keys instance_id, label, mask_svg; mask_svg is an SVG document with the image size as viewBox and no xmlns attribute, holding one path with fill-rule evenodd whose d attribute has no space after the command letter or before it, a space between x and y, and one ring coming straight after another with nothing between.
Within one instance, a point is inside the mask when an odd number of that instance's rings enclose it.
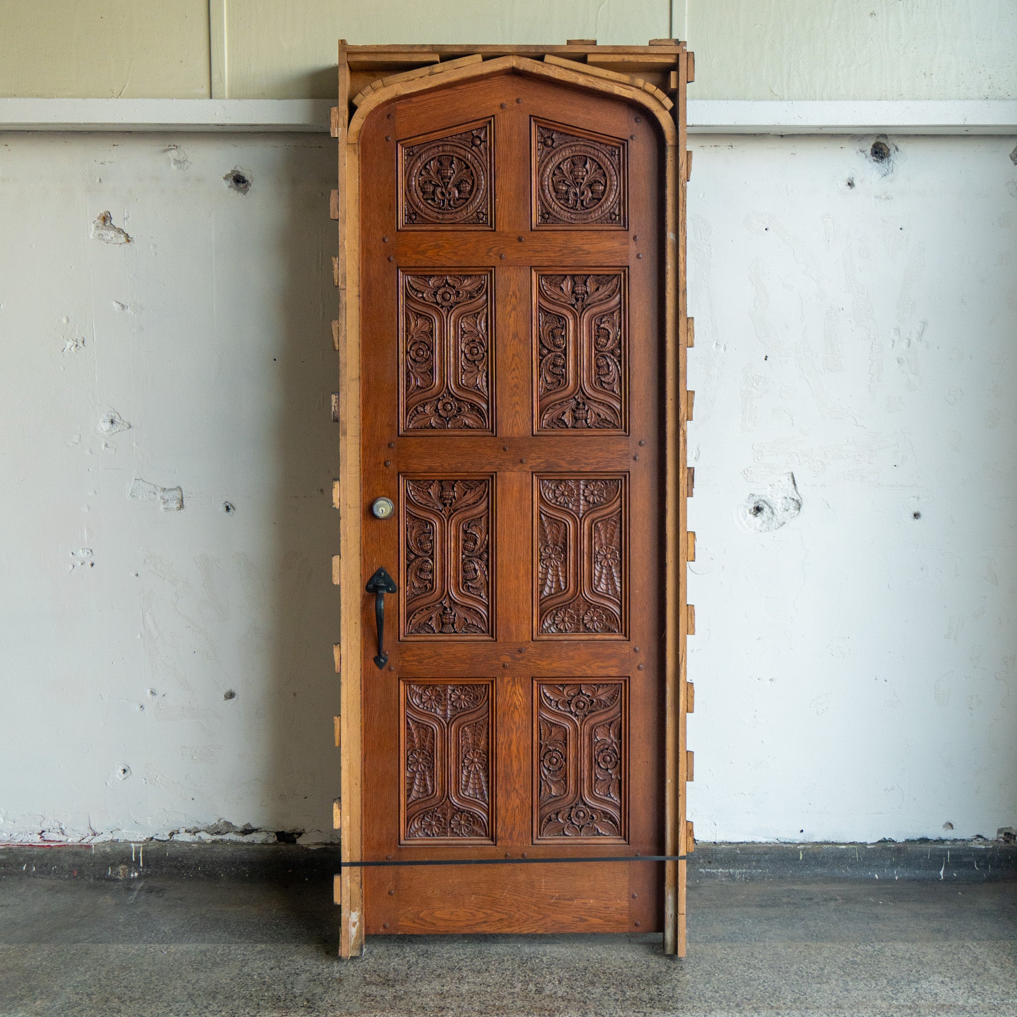
<instances>
[{"instance_id":1,"label":"carved rectangular door panel, right column, second row from top","mask_svg":"<svg viewBox=\"0 0 1017 1017\"><path fill-rule=\"evenodd\" d=\"M627 274L534 272L534 433L629 430Z\"/></svg>"}]
</instances>

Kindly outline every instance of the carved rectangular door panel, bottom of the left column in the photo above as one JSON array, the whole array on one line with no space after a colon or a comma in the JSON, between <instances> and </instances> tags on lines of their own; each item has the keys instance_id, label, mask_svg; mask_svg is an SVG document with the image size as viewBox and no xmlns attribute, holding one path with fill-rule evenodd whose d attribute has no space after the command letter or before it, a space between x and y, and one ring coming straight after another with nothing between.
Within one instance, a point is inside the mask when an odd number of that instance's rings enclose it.
<instances>
[{"instance_id":1,"label":"carved rectangular door panel, bottom of the left column","mask_svg":"<svg viewBox=\"0 0 1017 1017\"><path fill-rule=\"evenodd\" d=\"M403 681L402 841L493 843L490 681Z\"/></svg>"}]
</instances>

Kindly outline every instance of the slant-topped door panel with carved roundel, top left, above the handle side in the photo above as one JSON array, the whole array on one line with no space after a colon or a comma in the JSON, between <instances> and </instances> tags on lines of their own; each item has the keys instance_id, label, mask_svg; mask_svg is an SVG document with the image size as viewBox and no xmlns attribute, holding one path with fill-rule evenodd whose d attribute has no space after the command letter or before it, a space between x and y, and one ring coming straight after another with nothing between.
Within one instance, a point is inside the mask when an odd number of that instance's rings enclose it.
<instances>
[{"instance_id":1,"label":"slant-topped door panel with carved roundel, top left, above the handle side","mask_svg":"<svg viewBox=\"0 0 1017 1017\"><path fill-rule=\"evenodd\" d=\"M400 141L400 229L493 229L493 142L491 118Z\"/></svg>"}]
</instances>

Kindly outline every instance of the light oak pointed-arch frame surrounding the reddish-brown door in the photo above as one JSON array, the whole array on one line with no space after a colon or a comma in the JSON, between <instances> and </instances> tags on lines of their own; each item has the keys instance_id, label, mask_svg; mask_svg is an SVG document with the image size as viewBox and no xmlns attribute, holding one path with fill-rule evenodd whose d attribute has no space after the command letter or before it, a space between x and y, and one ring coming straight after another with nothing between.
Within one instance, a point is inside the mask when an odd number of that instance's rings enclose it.
<instances>
[{"instance_id":1,"label":"light oak pointed-arch frame surrounding the reddish-brown door","mask_svg":"<svg viewBox=\"0 0 1017 1017\"><path fill-rule=\"evenodd\" d=\"M407 67L410 69L390 73ZM645 76L620 70L639 71ZM685 148L685 85L693 79L693 54L677 40L656 40L645 47L597 47L591 41L553 47L367 47L347 46L345 40L340 41L339 105L333 110L332 120L332 133L339 138L339 188L333 194L332 214L339 221L339 256L333 258L334 282L340 297L339 319L333 323L334 347L339 353L339 405L334 405L333 413L340 424L340 477L333 497L340 511L340 553L333 559L333 581L341 588L340 642L336 646L341 714L336 730L342 751L342 776L334 820L340 829L344 862L360 859L363 846L360 130L373 110L393 100L506 72L624 99L646 109L663 135L664 849L667 854L683 856L694 848L692 824L685 819L685 782L691 779L685 715L692 705L691 685L685 680L685 641L695 631L695 615L685 599L685 565L694 546L687 533L685 505L692 493L685 425L692 417L693 396L685 386L685 349L693 338L685 306L685 192L692 169L692 154ZM362 83L365 76L364 86L351 96L351 79ZM653 79L665 85L666 92ZM355 108L352 115L351 106ZM695 539L695 535L692 537ZM684 956L685 861L668 861L664 865L664 952ZM342 908L343 958L360 956L364 949L362 873L360 869L344 868L335 879L335 900Z\"/></svg>"}]
</instances>

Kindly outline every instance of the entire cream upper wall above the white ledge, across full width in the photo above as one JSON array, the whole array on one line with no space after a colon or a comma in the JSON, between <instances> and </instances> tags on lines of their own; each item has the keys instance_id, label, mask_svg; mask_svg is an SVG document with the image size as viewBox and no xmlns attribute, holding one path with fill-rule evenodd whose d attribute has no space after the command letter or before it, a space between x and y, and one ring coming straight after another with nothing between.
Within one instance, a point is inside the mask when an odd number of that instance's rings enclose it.
<instances>
[{"instance_id":1,"label":"entire cream upper wall above the white ledge, across full width","mask_svg":"<svg viewBox=\"0 0 1017 1017\"><path fill-rule=\"evenodd\" d=\"M673 2L673 14L671 10ZM326 99L336 41L642 44L697 54L697 99L1017 98L1017 0L211 0L227 95ZM210 0L0 0L0 96L211 95Z\"/></svg>"}]
</instances>

